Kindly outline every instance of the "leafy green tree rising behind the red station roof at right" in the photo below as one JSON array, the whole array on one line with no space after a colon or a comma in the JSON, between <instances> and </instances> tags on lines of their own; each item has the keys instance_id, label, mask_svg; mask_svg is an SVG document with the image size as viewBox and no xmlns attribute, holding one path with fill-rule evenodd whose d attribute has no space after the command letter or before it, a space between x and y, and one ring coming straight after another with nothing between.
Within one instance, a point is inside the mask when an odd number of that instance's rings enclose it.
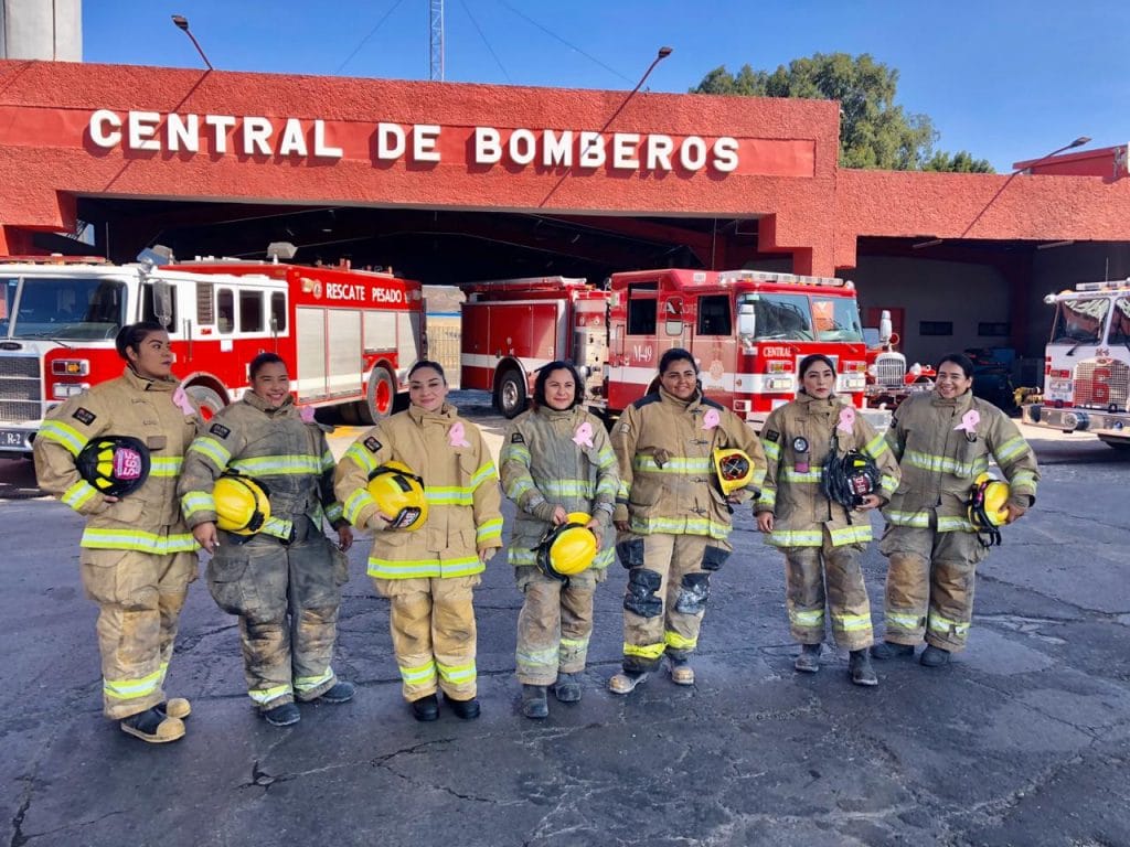
<instances>
[{"instance_id":1,"label":"leafy green tree rising behind the red station roof at right","mask_svg":"<svg viewBox=\"0 0 1130 847\"><path fill-rule=\"evenodd\" d=\"M693 94L745 97L802 97L840 102L840 164L889 171L960 171L992 173L984 159L968 152L935 151L938 132L921 114L895 104L898 71L867 53L816 53L794 59L775 71L744 64L736 75L719 67L703 77Z\"/></svg>"}]
</instances>

